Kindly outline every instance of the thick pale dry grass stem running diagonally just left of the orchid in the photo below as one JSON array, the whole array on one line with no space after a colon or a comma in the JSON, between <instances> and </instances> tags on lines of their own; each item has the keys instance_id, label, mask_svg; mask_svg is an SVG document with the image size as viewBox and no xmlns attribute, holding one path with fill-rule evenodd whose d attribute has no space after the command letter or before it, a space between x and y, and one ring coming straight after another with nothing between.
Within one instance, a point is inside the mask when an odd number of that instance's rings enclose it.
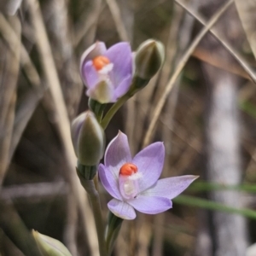
<instances>
[{"instance_id":1,"label":"thick pale dry grass stem running diagonally just left of the orchid","mask_svg":"<svg viewBox=\"0 0 256 256\"><path fill-rule=\"evenodd\" d=\"M75 166L76 157L73 152L73 144L70 137L70 123L67 115L67 108L65 106L63 94L61 91L61 84L57 76L53 55L51 53L49 40L44 27L44 21L39 9L39 3L37 0L27 0L30 14L32 16L32 24L37 38L38 51L41 56L42 65L44 68L44 75L47 79L50 95L52 96L54 107L57 129L61 137L61 143L63 143L63 149L67 158L67 164L69 171L67 176L71 184L71 188L74 194L74 198L77 200L78 207L81 216L83 218L84 230L87 234L90 233L90 251L92 255L98 255L98 245L96 240L96 230L92 219L92 213L89 207L87 197L85 197L84 189L79 183L79 178L76 176Z\"/></svg>"}]
</instances>

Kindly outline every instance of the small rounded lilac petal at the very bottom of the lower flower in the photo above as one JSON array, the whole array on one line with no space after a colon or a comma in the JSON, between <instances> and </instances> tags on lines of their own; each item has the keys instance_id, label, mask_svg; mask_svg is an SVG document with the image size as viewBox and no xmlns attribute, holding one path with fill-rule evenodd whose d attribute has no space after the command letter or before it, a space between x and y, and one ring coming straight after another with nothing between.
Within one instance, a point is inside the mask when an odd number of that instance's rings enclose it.
<instances>
[{"instance_id":1,"label":"small rounded lilac petal at the very bottom of the lower flower","mask_svg":"<svg viewBox=\"0 0 256 256\"><path fill-rule=\"evenodd\" d=\"M119 218L124 218L124 219L136 218L136 213L133 207L131 207L125 201L119 201L119 200L113 199L108 202L108 209Z\"/></svg>"}]
</instances>

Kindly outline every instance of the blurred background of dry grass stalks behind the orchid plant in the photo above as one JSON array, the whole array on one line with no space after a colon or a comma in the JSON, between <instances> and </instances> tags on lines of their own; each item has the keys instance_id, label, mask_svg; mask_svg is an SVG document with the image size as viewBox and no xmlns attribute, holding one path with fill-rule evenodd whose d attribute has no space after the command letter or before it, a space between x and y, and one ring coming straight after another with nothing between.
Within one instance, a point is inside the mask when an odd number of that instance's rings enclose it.
<instances>
[{"instance_id":1,"label":"blurred background of dry grass stalks behind the orchid plant","mask_svg":"<svg viewBox=\"0 0 256 256\"><path fill-rule=\"evenodd\" d=\"M136 50L148 38L166 61L107 142L124 131L136 154L163 141L162 177L200 178L173 209L124 221L113 255L256 255L255 2L1 0L0 11L1 256L37 255L32 229L98 255L69 131L88 108L79 59L96 40Z\"/></svg>"}]
</instances>

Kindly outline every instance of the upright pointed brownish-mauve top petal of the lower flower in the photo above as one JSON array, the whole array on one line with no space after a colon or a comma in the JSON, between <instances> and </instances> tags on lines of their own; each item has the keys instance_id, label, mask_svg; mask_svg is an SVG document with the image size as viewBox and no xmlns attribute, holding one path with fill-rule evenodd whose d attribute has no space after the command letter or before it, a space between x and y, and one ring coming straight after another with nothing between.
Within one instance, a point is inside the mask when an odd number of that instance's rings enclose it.
<instances>
[{"instance_id":1,"label":"upright pointed brownish-mauve top petal of the lower flower","mask_svg":"<svg viewBox=\"0 0 256 256\"><path fill-rule=\"evenodd\" d=\"M108 144L105 154L105 166L118 179L119 170L125 163L131 162L131 152L127 136L119 131L117 137Z\"/></svg>"}]
</instances>

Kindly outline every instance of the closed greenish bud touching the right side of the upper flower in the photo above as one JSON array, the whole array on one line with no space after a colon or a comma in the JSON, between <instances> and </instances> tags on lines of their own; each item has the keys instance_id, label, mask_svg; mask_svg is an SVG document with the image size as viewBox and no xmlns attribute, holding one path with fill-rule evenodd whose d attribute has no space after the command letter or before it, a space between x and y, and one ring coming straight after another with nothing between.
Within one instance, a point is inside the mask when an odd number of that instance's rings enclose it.
<instances>
[{"instance_id":1,"label":"closed greenish bud touching the right side of the upper flower","mask_svg":"<svg viewBox=\"0 0 256 256\"><path fill-rule=\"evenodd\" d=\"M141 79L151 79L165 59L165 47L159 41L148 39L143 42L135 56L136 74Z\"/></svg>"}]
</instances>

